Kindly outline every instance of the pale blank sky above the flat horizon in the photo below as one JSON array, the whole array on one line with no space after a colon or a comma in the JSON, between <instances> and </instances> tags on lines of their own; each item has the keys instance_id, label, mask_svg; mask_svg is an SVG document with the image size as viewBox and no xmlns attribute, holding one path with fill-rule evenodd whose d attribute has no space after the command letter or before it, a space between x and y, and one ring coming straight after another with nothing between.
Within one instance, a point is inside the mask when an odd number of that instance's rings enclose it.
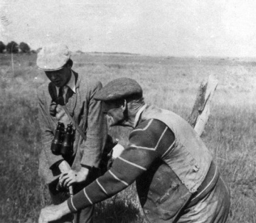
<instances>
[{"instance_id":1,"label":"pale blank sky above the flat horizon","mask_svg":"<svg viewBox=\"0 0 256 223\"><path fill-rule=\"evenodd\" d=\"M32 49L256 56L255 0L0 0L0 40Z\"/></svg>"}]
</instances>

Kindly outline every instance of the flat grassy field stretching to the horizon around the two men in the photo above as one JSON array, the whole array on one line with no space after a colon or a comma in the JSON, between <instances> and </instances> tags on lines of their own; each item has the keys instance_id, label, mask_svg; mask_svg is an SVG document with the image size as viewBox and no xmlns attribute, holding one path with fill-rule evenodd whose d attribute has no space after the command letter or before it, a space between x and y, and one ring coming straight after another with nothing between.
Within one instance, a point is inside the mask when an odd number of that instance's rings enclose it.
<instances>
[{"instance_id":1,"label":"flat grassy field stretching to the horizon around the two men","mask_svg":"<svg viewBox=\"0 0 256 223\"><path fill-rule=\"evenodd\" d=\"M203 141L231 190L228 222L256 222L256 63L241 58L168 58L142 55L73 55L73 69L105 85L131 77L147 103L187 118L201 80L215 75L218 88ZM40 132L36 89L45 80L36 55L0 54L0 222L37 222L48 191L38 178ZM127 143L129 130L110 129ZM144 222L134 185L96 206L95 222Z\"/></svg>"}]
</instances>

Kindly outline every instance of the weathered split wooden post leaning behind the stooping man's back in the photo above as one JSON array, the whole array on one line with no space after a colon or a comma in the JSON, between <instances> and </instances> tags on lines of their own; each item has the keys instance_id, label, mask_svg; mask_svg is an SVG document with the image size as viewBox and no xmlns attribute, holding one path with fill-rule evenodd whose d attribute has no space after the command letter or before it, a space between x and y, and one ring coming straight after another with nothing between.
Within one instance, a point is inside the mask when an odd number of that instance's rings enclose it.
<instances>
[{"instance_id":1,"label":"weathered split wooden post leaning behind the stooping man's back","mask_svg":"<svg viewBox=\"0 0 256 223\"><path fill-rule=\"evenodd\" d=\"M188 116L188 123L193 126L199 136L203 133L210 115L210 100L218 85L218 80L213 75L201 83L193 105L191 114Z\"/></svg>"}]
</instances>

